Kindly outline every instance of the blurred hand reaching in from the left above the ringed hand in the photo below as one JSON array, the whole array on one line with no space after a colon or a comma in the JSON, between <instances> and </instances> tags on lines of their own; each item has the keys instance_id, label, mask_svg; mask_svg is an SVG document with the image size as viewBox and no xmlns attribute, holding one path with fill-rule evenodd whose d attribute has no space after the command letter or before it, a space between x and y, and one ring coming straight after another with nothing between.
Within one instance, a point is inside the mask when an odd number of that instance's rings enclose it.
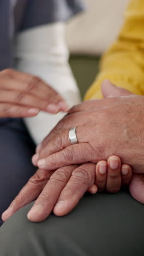
<instances>
[{"instance_id":1,"label":"blurred hand reaching in from the left above the ringed hand","mask_svg":"<svg viewBox=\"0 0 144 256\"><path fill-rule=\"evenodd\" d=\"M67 109L63 98L41 79L13 69L0 72L0 118L32 117L39 110L58 113Z\"/></svg>"}]
</instances>

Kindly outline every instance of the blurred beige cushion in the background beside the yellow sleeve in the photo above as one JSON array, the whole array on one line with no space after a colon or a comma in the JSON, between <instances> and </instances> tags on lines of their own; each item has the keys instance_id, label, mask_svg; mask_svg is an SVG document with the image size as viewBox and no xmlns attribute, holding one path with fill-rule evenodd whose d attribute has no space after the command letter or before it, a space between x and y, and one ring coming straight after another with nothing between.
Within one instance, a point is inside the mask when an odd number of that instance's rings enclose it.
<instances>
[{"instance_id":1,"label":"blurred beige cushion in the background beside the yellow sleeve","mask_svg":"<svg viewBox=\"0 0 144 256\"><path fill-rule=\"evenodd\" d=\"M83 0L87 10L67 26L67 42L73 54L103 53L123 24L129 0Z\"/></svg>"}]
</instances>

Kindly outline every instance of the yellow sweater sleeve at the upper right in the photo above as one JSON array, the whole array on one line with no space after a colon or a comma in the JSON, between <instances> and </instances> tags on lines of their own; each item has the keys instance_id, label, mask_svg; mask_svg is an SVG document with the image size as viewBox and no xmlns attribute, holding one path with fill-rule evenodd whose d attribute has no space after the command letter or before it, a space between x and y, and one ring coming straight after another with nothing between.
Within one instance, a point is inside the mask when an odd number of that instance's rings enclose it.
<instances>
[{"instance_id":1,"label":"yellow sweater sleeve at the upper right","mask_svg":"<svg viewBox=\"0 0 144 256\"><path fill-rule=\"evenodd\" d=\"M85 100L102 97L100 87L104 79L144 95L144 0L130 2L122 31L101 59L100 73Z\"/></svg>"}]
</instances>

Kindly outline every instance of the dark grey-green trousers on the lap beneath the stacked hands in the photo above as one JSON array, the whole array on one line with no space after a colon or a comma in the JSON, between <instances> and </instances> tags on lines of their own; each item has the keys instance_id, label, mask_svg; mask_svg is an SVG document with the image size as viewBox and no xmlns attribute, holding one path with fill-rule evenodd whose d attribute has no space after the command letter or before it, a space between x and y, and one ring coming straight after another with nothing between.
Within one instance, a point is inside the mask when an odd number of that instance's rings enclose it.
<instances>
[{"instance_id":1,"label":"dark grey-green trousers on the lap beneath the stacked hands","mask_svg":"<svg viewBox=\"0 0 144 256\"><path fill-rule=\"evenodd\" d=\"M0 229L1 256L143 256L144 207L127 191L85 195L67 216L32 223L32 203Z\"/></svg>"}]
</instances>

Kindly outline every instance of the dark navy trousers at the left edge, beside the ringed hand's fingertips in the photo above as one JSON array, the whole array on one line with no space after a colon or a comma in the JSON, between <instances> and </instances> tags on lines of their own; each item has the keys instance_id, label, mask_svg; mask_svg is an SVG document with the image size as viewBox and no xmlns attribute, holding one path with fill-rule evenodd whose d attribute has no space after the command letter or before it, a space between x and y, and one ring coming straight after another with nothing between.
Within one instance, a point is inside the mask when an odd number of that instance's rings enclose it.
<instances>
[{"instance_id":1,"label":"dark navy trousers at the left edge, beside the ringed hand's fingertips","mask_svg":"<svg viewBox=\"0 0 144 256\"><path fill-rule=\"evenodd\" d=\"M34 152L22 119L0 119L0 226L2 213L37 170L31 161Z\"/></svg>"}]
</instances>

